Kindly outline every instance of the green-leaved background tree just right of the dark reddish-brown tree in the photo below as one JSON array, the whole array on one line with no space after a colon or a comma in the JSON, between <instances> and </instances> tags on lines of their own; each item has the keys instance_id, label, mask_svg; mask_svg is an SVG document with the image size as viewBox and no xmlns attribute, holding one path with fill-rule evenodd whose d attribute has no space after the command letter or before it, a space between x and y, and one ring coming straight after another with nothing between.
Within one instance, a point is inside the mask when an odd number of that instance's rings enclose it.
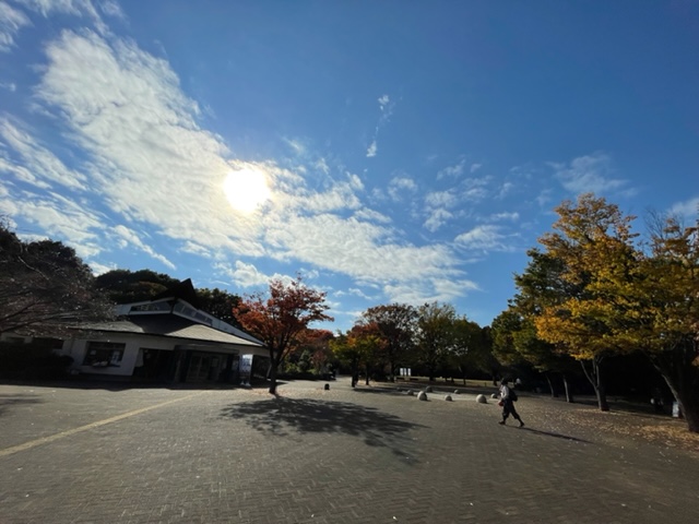
<instances>
[{"instance_id":1,"label":"green-leaved background tree just right of the dark reddish-brown tree","mask_svg":"<svg viewBox=\"0 0 699 524\"><path fill-rule=\"evenodd\" d=\"M455 320L457 312L448 303L430 302L417 309L416 356L430 381L454 348Z\"/></svg>"}]
</instances>

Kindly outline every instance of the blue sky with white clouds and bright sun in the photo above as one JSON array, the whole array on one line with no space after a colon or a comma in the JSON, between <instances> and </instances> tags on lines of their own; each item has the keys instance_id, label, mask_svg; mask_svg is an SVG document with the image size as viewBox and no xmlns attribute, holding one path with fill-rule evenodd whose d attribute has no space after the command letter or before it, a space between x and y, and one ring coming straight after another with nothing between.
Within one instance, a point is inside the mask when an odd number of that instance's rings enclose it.
<instances>
[{"instance_id":1,"label":"blue sky with white clouds and bright sun","mask_svg":"<svg viewBox=\"0 0 699 524\"><path fill-rule=\"evenodd\" d=\"M695 0L0 0L0 215L95 274L488 325L562 201L698 168Z\"/></svg>"}]
</instances>

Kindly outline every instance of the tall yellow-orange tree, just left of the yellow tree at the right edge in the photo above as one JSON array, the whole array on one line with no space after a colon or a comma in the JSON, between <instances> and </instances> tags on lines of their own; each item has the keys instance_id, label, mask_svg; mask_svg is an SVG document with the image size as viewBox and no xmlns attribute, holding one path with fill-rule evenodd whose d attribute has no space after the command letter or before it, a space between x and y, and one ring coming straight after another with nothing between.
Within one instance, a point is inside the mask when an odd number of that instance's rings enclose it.
<instances>
[{"instance_id":1,"label":"tall yellow-orange tree, just left of the yellow tree at the right edge","mask_svg":"<svg viewBox=\"0 0 699 524\"><path fill-rule=\"evenodd\" d=\"M545 234L540 242L561 264L560 277L569 293L560 302L544 306L534 324L538 337L580 361L600 409L608 410L601 364L609 355L629 350L611 336L607 320L615 311L608 284L632 271L633 217L591 193L574 203L565 201L556 212L556 231Z\"/></svg>"}]
</instances>

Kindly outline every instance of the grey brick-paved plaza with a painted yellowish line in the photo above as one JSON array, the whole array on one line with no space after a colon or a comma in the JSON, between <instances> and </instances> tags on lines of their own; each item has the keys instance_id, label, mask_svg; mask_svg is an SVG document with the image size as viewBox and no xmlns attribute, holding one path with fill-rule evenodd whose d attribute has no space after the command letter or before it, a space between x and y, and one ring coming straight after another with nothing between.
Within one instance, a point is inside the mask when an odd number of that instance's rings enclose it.
<instances>
[{"instance_id":1,"label":"grey brick-paved plaza with a painted yellowish line","mask_svg":"<svg viewBox=\"0 0 699 524\"><path fill-rule=\"evenodd\" d=\"M0 384L0 523L695 523L699 454L522 395ZM493 390L495 391L495 390ZM484 390L484 393L491 391ZM582 413L582 412L580 412ZM615 414L600 414L621 424ZM617 417L617 418L615 418Z\"/></svg>"}]
</instances>

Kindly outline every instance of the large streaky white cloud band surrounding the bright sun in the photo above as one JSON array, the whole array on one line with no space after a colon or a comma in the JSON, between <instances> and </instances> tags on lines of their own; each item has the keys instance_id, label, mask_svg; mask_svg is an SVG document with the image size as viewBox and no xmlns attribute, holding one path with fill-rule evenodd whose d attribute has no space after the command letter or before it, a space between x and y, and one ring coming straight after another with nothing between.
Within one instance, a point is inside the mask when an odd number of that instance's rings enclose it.
<instances>
[{"instance_id":1,"label":"large streaky white cloud band surrounding the bright sun","mask_svg":"<svg viewBox=\"0 0 699 524\"><path fill-rule=\"evenodd\" d=\"M109 249L99 246L111 238L175 267L150 246L149 238L157 237L167 238L176 251L220 261L230 253L245 260L271 257L348 275L358 285L415 288L420 299L447 296L447 290L438 289L446 281L466 283L451 247L416 246L391 227L386 215L363 205L358 176L346 172L332 180L317 165L327 180L322 190L316 190L307 186L301 169L286 169L272 160L232 159L223 139L200 126L199 105L182 93L169 64L134 43L64 31L45 49L47 63L34 90L43 112L34 117L46 115L67 128L64 136L81 166L72 172L56 156L63 148L51 153L48 144L27 136L12 142L8 151L16 157L24 154L23 166L42 167L40 177L29 174L35 180L61 184L74 200L71 207L54 193L19 198L12 193L15 189L3 184L12 194L0 205L15 216L40 223L48 233L61 231L91 257ZM388 97L381 109L382 119L390 115ZM15 128L31 132L26 126ZM5 164L13 166L7 158ZM264 172L272 193L249 215L235 212L223 191L228 172L245 165ZM20 171L15 165L12 176L21 178ZM73 184L67 186L70 177ZM399 198L416 192L417 184L408 177L395 177L388 191ZM104 214L91 206L97 199L108 206ZM33 206L20 210L16 202ZM118 224L111 237L109 223ZM241 286L269 279L244 262L228 270Z\"/></svg>"}]
</instances>

